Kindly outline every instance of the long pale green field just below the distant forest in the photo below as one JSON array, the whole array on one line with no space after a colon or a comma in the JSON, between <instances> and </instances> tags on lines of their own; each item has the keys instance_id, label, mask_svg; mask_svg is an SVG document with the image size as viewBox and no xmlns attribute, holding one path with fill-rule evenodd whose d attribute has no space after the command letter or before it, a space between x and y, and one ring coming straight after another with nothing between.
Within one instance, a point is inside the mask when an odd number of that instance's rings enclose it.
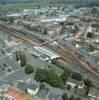
<instances>
[{"instance_id":1,"label":"long pale green field just below the distant forest","mask_svg":"<svg viewBox=\"0 0 99 100\"><path fill-rule=\"evenodd\" d=\"M48 7L48 6L75 6L78 5L76 3L65 3L65 4L49 4L47 1L44 2L30 2L30 3L14 3L14 4L5 4L5 5L0 5L0 8L2 8L3 10L8 10L8 9L20 9L20 8L33 8L33 7Z\"/></svg>"}]
</instances>

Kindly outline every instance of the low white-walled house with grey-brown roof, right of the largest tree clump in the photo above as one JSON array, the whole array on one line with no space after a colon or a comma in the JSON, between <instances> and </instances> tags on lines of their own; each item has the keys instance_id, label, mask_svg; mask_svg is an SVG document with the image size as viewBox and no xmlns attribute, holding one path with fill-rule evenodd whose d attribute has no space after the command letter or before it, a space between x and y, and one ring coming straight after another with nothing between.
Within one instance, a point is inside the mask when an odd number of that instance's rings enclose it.
<instances>
[{"instance_id":1,"label":"low white-walled house with grey-brown roof, right of the largest tree clump","mask_svg":"<svg viewBox=\"0 0 99 100\"><path fill-rule=\"evenodd\" d=\"M78 81L78 80L75 80L75 79L69 79L67 81L67 85L70 85L72 88L74 88L75 86L78 86L79 89L84 88L83 81Z\"/></svg>"}]
</instances>

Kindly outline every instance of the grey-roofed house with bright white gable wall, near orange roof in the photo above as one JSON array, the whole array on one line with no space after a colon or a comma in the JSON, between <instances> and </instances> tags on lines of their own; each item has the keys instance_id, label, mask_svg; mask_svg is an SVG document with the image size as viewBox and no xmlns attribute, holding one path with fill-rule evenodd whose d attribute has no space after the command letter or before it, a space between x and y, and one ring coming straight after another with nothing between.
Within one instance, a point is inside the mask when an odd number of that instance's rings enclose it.
<instances>
[{"instance_id":1,"label":"grey-roofed house with bright white gable wall, near orange roof","mask_svg":"<svg viewBox=\"0 0 99 100\"><path fill-rule=\"evenodd\" d=\"M39 91L39 86L36 84L33 84L32 82L26 83L26 82L18 82L17 87L30 95L36 95Z\"/></svg>"}]
</instances>

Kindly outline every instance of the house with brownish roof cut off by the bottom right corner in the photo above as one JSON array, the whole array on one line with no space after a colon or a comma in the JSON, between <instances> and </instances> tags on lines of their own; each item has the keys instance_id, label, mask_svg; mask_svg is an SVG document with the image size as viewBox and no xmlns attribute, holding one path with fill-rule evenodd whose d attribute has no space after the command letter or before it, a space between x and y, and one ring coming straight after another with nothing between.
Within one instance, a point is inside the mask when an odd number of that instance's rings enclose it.
<instances>
[{"instance_id":1,"label":"house with brownish roof cut off by the bottom right corner","mask_svg":"<svg viewBox=\"0 0 99 100\"><path fill-rule=\"evenodd\" d=\"M90 100L99 100L99 89L91 89L88 93Z\"/></svg>"}]
</instances>

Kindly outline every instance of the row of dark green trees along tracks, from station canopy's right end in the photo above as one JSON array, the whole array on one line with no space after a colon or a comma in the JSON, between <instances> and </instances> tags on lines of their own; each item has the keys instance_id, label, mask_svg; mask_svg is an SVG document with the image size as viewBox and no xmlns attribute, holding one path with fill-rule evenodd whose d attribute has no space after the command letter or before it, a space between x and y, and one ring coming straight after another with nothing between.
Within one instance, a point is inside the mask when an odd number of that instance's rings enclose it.
<instances>
[{"instance_id":1,"label":"row of dark green trees along tracks, from station canopy's right end","mask_svg":"<svg viewBox=\"0 0 99 100\"><path fill-rule=\"evenodd\" d=\"M85 79L80 73L72 72L70 69L67 68L66 65L60 63L58 60L53 60L52 64L55 64L56 66L64 70L63 74L61 75L64 84L68 80L68 78L72 78L78 81L84 81L84 84L87 87L87 89L93 86L91 80Z\"/></svg>"}]
</instances>

